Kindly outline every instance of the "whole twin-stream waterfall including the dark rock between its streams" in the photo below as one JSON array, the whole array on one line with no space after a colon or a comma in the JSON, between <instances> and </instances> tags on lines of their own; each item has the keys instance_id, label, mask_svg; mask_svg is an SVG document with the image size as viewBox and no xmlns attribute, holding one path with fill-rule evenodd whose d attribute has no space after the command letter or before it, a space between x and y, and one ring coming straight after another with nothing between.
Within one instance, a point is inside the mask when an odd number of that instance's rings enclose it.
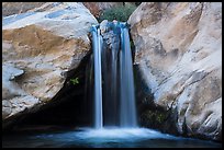
<instances>
[{"instance_id":1,"label":"whole twin-stream waterfall including the dark rock between its streams","mask_svg":"<svg viewBox=\"0 0 224 150\"><path fill-rule=\"evenodd\" d=\"M92 26L94 127L137 127L128 26Z\"/></svg>"}]
</instances>

